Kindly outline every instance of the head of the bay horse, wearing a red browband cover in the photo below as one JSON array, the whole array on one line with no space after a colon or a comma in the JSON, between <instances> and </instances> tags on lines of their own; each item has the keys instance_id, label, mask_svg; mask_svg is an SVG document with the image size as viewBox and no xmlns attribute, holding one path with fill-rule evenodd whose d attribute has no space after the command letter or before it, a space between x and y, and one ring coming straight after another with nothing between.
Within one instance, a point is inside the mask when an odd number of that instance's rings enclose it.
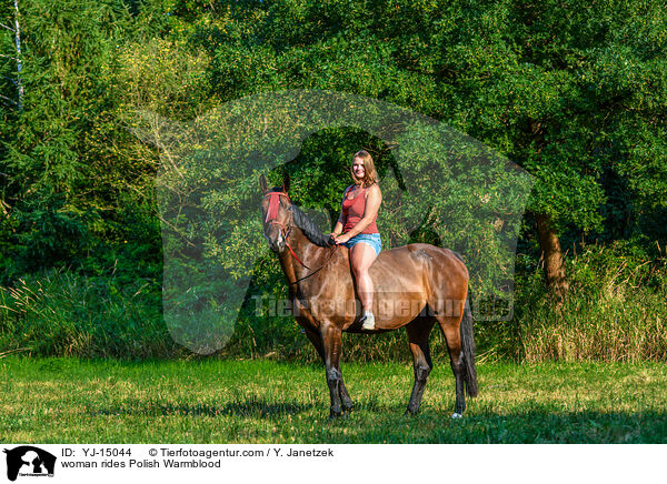
<instances>
[{"instance_id":1,"label":"head of the bay horse, wearing a red browband cover","mask_svg":"<svg viewBox=\"0 0 667 484\"><path fill-rule=\"evenodd\" d=\"M285 175L282 186L269 189L267 179L259 177L259 186L263 193L261 201L263 234L273 252L281 253L287 246L287 238L293 225L291 200L287 194L289 190L289 175Z\"/></svg>"}]
</instances>

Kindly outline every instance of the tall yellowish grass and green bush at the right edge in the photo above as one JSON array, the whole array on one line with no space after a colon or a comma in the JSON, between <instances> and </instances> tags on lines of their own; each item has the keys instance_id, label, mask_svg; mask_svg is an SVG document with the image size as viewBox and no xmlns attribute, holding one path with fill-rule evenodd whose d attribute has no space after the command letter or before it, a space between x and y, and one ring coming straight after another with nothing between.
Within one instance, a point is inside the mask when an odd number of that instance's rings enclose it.
<instances>
[{"instance_id":1,"label":"tall yellowish grass and green bush at the right edge","mask_svg":"<svg viewBox=\"0 0 667 484\"><path fill-rule=\"evenodd\" d=\"M521 281L518 346L528 362L667 359L667 264L617 241L585 245L566 260L559 307L537 271ZM540 271L541 272L541 271Z\"/></svg>"}]
</instances>

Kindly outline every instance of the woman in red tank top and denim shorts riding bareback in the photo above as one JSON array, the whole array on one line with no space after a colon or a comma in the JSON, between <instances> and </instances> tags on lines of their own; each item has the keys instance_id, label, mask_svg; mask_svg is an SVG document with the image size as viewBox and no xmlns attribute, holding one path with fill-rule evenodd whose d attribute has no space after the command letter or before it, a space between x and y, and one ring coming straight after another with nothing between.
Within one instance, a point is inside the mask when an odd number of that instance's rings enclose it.
<instances>
[{"instance_id":1,"label":"woman in red tank top and denim shorts riding bareback","mask_svg":"<svg viewBox=\"0 0 667 484\"><path fill-rule=\"evenodd\" d=\"M350 263L357 295L364 306L362 329L375 330L372 314L374 285L368 269L382 249L382 241L376 225L378 209L382 202L382 192L378 186L378 173L371 155L359 151L352 157L351 167L354 184L348 186L342 196L342 210L331 238L337 244L350 249Z\"/></svg>"}]
</instances>

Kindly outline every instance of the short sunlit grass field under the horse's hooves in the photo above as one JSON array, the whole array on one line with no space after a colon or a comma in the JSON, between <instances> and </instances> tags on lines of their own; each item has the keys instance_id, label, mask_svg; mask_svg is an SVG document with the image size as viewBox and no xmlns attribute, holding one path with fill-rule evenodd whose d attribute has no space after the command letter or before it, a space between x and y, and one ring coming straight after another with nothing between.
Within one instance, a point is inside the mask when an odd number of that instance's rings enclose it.
<instances>
[{"instance_id":1,"label":"short sunlit grass field under the horse's hooves","mask_svg":"<svg viewBox=\"0 0 667 484\"><path fill-rule=\"evenodd\" d=\"M323 371L270 361L0 360L0 441L32 443L667 443L667 366L482 364L451 420L448 365L404 416L411 367L347 364L356 409L328 421Z\"/></svg>"}]
</instances>

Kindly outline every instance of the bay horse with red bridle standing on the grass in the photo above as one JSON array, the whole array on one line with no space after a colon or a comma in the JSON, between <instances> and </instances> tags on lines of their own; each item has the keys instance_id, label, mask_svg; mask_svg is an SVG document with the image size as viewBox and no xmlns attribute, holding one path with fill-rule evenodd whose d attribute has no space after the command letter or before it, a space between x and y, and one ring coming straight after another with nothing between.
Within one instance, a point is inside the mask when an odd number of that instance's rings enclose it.
<instances>
[{"instance_id":1,"label":"bay horse with red bridle standing on the grass","mask_svg":"<svg viewBox=\"0 0 667 484\"><path fill-rule=\"evenodd\" d=\"M331 396L330 417L349 415L352 401L340 371L342 332L378 333L405 326L412 352L415 384L406 414L419 411L432 362L428 337L439 324L456 379L452 417L466 410L464 387L477 395L472 316L468 301L468 270L448 250L415 243L380 252L370 266L374 281L372 331L361 329L361 302L357 298L349 250L336 245L288 195L282 186L269 189L259 179L263 234L278 255L289 284L291 310L319 353Z\"/></svg>"}]
</instances>

